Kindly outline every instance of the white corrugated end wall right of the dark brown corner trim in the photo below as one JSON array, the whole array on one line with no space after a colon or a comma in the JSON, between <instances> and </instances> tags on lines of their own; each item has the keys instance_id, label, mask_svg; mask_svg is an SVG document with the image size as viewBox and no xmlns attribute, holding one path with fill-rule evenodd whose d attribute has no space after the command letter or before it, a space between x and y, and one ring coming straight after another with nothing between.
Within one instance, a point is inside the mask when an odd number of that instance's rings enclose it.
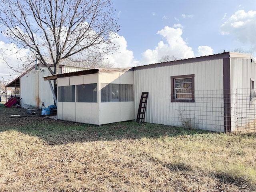
<instances>
[{"instance_id":1,"label":"white corrugated end wall right of the dark brown corner trim","mask_svg":"<svg viewBox=\"0 0 256 192\"><path fill-rule=\"evenodd\" d=\"M250 101L251 78L256 90L256 64L251 58L230 58L232 131L256 117L255 100Z\"/></svg>"}]
</instances>

